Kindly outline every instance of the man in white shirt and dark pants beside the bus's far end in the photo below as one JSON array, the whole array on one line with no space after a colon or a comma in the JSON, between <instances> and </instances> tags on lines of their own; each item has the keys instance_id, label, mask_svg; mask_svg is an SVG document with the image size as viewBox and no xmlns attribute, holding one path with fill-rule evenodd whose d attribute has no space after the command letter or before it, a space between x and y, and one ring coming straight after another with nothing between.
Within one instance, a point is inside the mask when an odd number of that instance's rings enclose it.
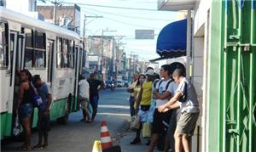
<instances>
[{"instance_id":1,"label":"man in white shirt and dark pants beside the bus's far end","mask_svg":"<svg viewBox=\"0 0 256 152\"><path fill-rule=\"evenodd\" d=\"M79 76L79 103L80 103L80 107L83 111L83 116L84 118L81 121L85 121L90 123L91 119L90 119L90 113L89 110L87 108L88 103L89 103L89 89L90 89L90 85L89 83L85 80L84 76L80 75ZM87 118L87 120L86 120Z\"/></svg>"}]
</instances>

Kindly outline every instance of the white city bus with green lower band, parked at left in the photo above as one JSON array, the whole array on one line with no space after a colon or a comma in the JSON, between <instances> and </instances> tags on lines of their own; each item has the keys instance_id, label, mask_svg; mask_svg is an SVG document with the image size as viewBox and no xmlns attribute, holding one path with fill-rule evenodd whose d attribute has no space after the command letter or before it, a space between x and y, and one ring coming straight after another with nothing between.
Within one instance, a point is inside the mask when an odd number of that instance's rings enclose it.
<instances>
[{"instance_id":1,"label":"white city bus with green lower band, parked at left","mask_svg":"<svg viewBox=\"0 0 256 152\"><path fill-rule=\"evenodd\" d=\"M67 123L69 113L79 110L78 77L84 53L79 34L0 7L0 35L1 139L12 136L23 69L49 85L50 120ZM35 108L32 127L37 120Z\"/></svg>"}]
</instances>

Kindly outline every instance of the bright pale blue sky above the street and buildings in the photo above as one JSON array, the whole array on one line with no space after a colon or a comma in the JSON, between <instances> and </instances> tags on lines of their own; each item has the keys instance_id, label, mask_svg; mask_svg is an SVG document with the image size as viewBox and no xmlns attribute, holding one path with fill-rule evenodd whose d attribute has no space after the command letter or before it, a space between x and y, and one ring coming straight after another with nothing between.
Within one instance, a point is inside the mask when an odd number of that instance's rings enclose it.
<instances>
[{"instance_id":1,"label":"bright pale blue sky above the street and buildings","mask_svg":"<svg viewBox=\"0 0 256 152\"><path fill-rule=\"evenodd\" d=\"M38 5L50 5L49 1L47 0L46 4L38 2ZM158 34L164 26L177 20L176 12L158 11L157 0L61 0L59 2L63 2L64 5L77 3L81 8L81 20L84 18L84 14L103 16L86 20L85 35L101 36L102 30L104 30L104 36L122 36L120 41L124 43L122 48L128 57L132 52L138 54L139 58L145 61L160 57L156 53ZM81 21L81 27L83 27L82 23L83 21ZM111 32L105 32L107 29ZM80 30L83 31L82 28ZM154 40L136 40L135 30L154 30Z\"/></svg>"}]
</instances>

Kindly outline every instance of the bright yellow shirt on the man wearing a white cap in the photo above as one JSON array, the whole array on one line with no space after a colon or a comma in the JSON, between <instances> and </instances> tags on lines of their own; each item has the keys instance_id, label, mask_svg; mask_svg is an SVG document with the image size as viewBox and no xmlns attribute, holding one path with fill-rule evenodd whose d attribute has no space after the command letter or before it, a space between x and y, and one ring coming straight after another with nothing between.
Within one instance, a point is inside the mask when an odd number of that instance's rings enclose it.
<instances>
[{"instance_id":1,"label":"bright yellow shirt on the man wearing a white cap","mask_svg":"<svg viewBox=\"0 0 256 152\"><path fill-rule=\"evenodd\" d=\"M150 105L152 95L152 82L143 82L143 96L141 105Z\"/></svg>"}]
</instances>

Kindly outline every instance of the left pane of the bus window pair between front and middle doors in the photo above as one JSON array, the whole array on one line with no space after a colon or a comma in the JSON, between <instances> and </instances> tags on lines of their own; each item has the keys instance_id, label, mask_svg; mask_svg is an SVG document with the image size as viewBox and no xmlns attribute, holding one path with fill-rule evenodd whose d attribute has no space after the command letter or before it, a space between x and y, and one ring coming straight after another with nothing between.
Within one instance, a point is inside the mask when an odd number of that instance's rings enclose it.
<instances>
[{"instance_id":1,"label":"left pane of the bus window pair between front and middle doors","mask_svg":"<svg viewBox=\"0 0 256 152\"><path fill-rule=\"evenodd\" d=\"M31 29L24 29L24 33L26 34L26 46L25 46L25 56L24 56L24 67L32 68L33 67L33 31Z\"/></svg>"}]
</instances>

